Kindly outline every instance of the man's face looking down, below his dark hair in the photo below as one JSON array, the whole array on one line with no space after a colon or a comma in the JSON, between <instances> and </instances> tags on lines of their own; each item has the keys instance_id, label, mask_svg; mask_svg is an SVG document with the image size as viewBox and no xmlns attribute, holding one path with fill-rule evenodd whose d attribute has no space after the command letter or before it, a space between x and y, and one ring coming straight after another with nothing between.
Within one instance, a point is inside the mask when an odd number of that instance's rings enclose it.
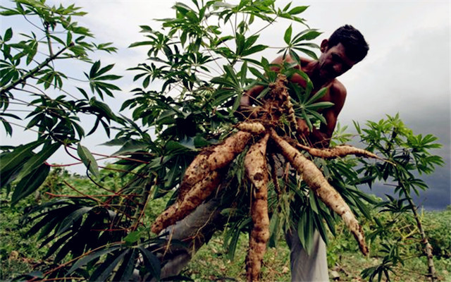
<instances>
[{"instance_id":1,"label":"man's face looking down, below his dark hair","mask_svg":"<svg viewBox=\"0 0 451 282\"><path fill-rule=\"evenodd\" d=\"M352 61L346 56L345 47L341 43L333 47L328 47L327 43L327 40L321 43L319 75L323 80L333 80L350 70L357 61Z\"/></svg>"}]
</instances>

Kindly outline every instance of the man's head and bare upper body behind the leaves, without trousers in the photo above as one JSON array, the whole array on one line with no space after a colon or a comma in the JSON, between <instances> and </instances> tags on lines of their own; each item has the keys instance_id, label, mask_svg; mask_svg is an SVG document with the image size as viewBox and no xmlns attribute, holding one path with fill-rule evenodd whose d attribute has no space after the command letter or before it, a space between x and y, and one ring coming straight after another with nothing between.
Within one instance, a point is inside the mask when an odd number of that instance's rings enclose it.
<instances>
[{"instance_id":1,"label":"man's head and bare upper body behind the leaves, without trousers","mask_svg":"<svg viewBox=\"0 0 451 282\"><path fill-rule=\"evenodd\" d=\"M314 89L311 94L315 94L323 87L328 87L328 92L317 102L332 102L333 106L323 109L322 113L326 119L326 124L321 124L318 129L313 128L311 132L307 127L307 123L302 119L298 119L299 133L308 137L311 144L316 147L328 147L330 137L337 123L338 114L345 104L346 88L335 78L349 71L359 61L362 61L368 52L368 44L366 44L363 35L351 25L345 25L335 30L329 39L321 42L321 56L318 61L301 58L300 68L304 73L309 75L313 82ZM279 56L272 63L280 65L283 63L283 56ZM285 57L288 63L294 63L290 56ZM273 67L273 71L277 71L277 67ZM290 78L291 82L305 87L305 80L295 73ZM250 106L252 100L264 89L258 85L249 90L241 99L241 106Z\"/></svg>"}]
</instances>

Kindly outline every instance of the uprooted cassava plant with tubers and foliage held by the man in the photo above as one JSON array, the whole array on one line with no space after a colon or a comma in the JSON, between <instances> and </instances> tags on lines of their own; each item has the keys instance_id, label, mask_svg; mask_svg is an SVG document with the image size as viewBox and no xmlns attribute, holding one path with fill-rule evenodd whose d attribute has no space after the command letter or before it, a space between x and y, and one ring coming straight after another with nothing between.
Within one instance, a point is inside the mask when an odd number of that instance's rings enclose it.
<instances>
[{"instance_id":1,"label":"uprooted cassava plant with tubers and foliage held by the man","mask_svg":"<svg viewBox=\"0 0 451 282\"><path fill-rule=\"evenodd\" d=\"M323 177L323 173L316 164L309 159L316 158L316 161L319 161L321 157L327 157L326 154L332 158L353 153L363 153L366 157L376 156L352 147L336 147L321 151L321 154L317 156L311 151L309 156L304 157L301 152L292 147L299 142L295 137L297 132L295 120L297 117L304 118L310 127L316 121L324 122L323 116L318 114L317 110L331 104L318 103L316 100L326 94L326 89L311 95L312 85L309 78L302 71L295 69L295 64L287 63L276 73L271 71L271 64L266 59L256 61L249 57L257 51L266 49L266 46L256 44L258 32L254 33L251 26L256 18L269 23L276 18L291 18L303 23L303 20L294 15L301 13L306 7L290 8L288 5L280 9L275 8L271 1L241 1L235 6L219 1L210 1L204 6L198 5L197 1L193 3L194 7L175 4L177 17L163 20L163 27L167 30L165 33L149 26L142 26L149 40L132 44L132 46L149 45L149 59L154 62L150 65L143 63L133 68L134 71L140 71L135 79L143 79L144 88L149 87L152 80L161 79L164 83L159 90L135 90L137 97L125 102L125 106L130 105L131 108L135 108L133 113L135 118L141 118L144 124L155 126L159 133L156 142L163 145L163 148L168 145L173 147L177 143L179 148L190 145L195 147L199 140L211 140L215 137L221 138L221 135L228 135L231 128L237 128L238 131L220 144L202 149L190 166L187 166L190 161L187 161L185 156L177 156L177 159L172 157L175 161L174 166L174 163L169 164L171 157L165 155L163 162L171 168L163 171L161 177L165 180L171 176L169 178L171 185L164 181L157 189L162 192L171 190L173 187L178 189L174 193L173 200L168 203L166 211L153 223L152 231L158 234L176 221L185 218L214 191L218 191L217 188L223 186L223 180L228 175L230 164L241 160L239 156L244 154L241 167L244 166L245 173L241 175L247 176L252 183L252 190L243 197L253 199L251 212L244 213L245 216L250 214L252 219L247 221L247 226L252 230L247 278L252 281L258 280L266 242L271 237L268 210L273 214L274 207L279 204L277 201L273 202L273 207L269 208L266 201L268 197L266 154L278 152L283 154L302 176L302 183L307 183L303 189L307 186L311 188L312 192L306 190L306 195L311 195L311 201L316 203L315 197L319 197L325 203L324 206L318 203L321 212L316 209L315 221L305 219L304 223L307 223L309 231L303 235L307 238L302 238L304 245L309 245L316 226L321 226L321 234L326 234L323 227L324 217L328 217L328 223L333 226L335 218L328 209L331 208L345 220L357 238L362 252L366 253L364 234L352 209ZM233 34L224 35L219 27L228 24L233 26ZM249 33L251 36L247 38ZM292 26L290 26L283 36L288 47L281 48L280 52L290 54L297 63L299 63L297 51L304 51L307 55L315 56L305 48L316 47L308 40L318 35L319 32L307 28L292 36ZM199 66L200 62L203 63L201 66ZM219 62L223 64L223 73L220 76L214 76ZM257 79L249 79L248 70ZM307 80L306 89L288 83L286 78L294 73L302 75ZM240 104L241 95L257 83L266 86L266 90L263 90L257 98L259 105L249 110L253 111L256 117L236 123L234 115ZM290 97L289 91L293 93L293 97ZM192 111L194 105L199 102L202 103L202 111ZM149 109L149 105L152 106L152 110ZM222 121L215 123L215 119ZM161 126L162 124L166 126ZM129 136L128 133L125 135ZM205 144L204 142L202 145ZM248 144L251 145L246 153ZM303 145L306 144L303 143ZM240 170L240 164L234 166L234 169ZM342 180L340 183L345 190L352 191L348 192L348 197L353 199L359 193L355 192L357 189L347 189L346 185L354 180ZM246 180L238 179L237 181L243 184L242 188L247 188ZM273 187L278 186L277 178L271 181ZM240 191L242 188L238 187L235 191ZM296 185L294 189L299 190ZM302 192L299 192L299 195L302 195ZM352 205L358 209L366 209L360 200L352 201ZM285 223L287 224L277 228L273 226L273 231L280 227L290 228L290 219ZM244 228L242 224L240 226ZM304 228L305 226L299 224L299 229L304 230Z\"/></svg>"}]
</instances>

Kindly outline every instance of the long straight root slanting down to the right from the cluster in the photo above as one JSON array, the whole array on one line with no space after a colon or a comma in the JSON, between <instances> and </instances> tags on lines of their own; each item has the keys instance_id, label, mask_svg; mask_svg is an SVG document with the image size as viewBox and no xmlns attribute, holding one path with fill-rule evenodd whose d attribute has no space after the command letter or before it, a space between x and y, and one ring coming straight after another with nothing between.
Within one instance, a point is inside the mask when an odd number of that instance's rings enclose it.
<instances>
[{"instance_id":1,"label":"long straight root slanting down to the right from the cluster","mask_svg":"<svg viewBox=\"0 0 451 282\"><path fill-rule=\"evenodd\" d=\"M312 161L306 159L297 149L292 147L288 142L278 136L274 130L271 130L271 138L276 142L280 148L283 156L290 161L290 164L302 174L302 179L307 183L307 186L316 193L316 196L326 204L336 214L341 216L347 228L350 229L359 248L364 255L368 253L368 247L365 244L365 237L362 226L352 213L350 207L340 194L328 183L324 178L323 173L315 166Z\"/></svg>"}]
</instances>

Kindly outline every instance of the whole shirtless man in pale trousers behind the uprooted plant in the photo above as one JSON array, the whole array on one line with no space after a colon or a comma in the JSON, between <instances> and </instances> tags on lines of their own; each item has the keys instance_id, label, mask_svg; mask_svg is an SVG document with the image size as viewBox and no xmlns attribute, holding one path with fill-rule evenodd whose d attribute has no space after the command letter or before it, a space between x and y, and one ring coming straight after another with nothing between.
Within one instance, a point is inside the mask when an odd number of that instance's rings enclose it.
<instances>
[{"instance_id":1,"label":"whole shirtless man in pale trousers behind the uprooted plant","mask_svg":"<svg viewBox=\"0 0 451 282\"><path fill-rule=\"evenodd\" d=\"M333 103L333 106L321 111L326 119L326 124L322 124L319 129L313 128L310 132L305 121L297 120L299 134L306 137L312 145L328 147L338 114L340 114L346 99L345 87L335 78L362 61L368 49L368 44L362 34L354 27L345 25L335 30L329 39L321 42L321 56L318 61L301 59L301 66L297 66L297 68L307 73L313 82L314 89L311 94L313 95L323 87L328 87L328 92L319 102ZM278 57L273 63L281 64L283 61L282 57ZM293 62L289 56L285 57L285 61ZM275 68L276 71L277 69ZM290 80L302 87L306 86L305 80L300 75L292 75ZM242 97L242 108L250 106L263 89L262 86L256 86L249 90ZM223 202L223 198L215 197L204 202L185 219L166 229L170 233L171 239L185 242L186 238L192 239L187 248L173 247L171 250L167 250L163 259L161 278L177 275L214 231L223 226L221 210L218 208L221 207L221 201ZM296 232L286 234L286 239L290 246L292 281L328 281L326 247L319 234L315 233L311 255L307 255L307 252L301 247Z\"/></svg>"}]
</instances>

